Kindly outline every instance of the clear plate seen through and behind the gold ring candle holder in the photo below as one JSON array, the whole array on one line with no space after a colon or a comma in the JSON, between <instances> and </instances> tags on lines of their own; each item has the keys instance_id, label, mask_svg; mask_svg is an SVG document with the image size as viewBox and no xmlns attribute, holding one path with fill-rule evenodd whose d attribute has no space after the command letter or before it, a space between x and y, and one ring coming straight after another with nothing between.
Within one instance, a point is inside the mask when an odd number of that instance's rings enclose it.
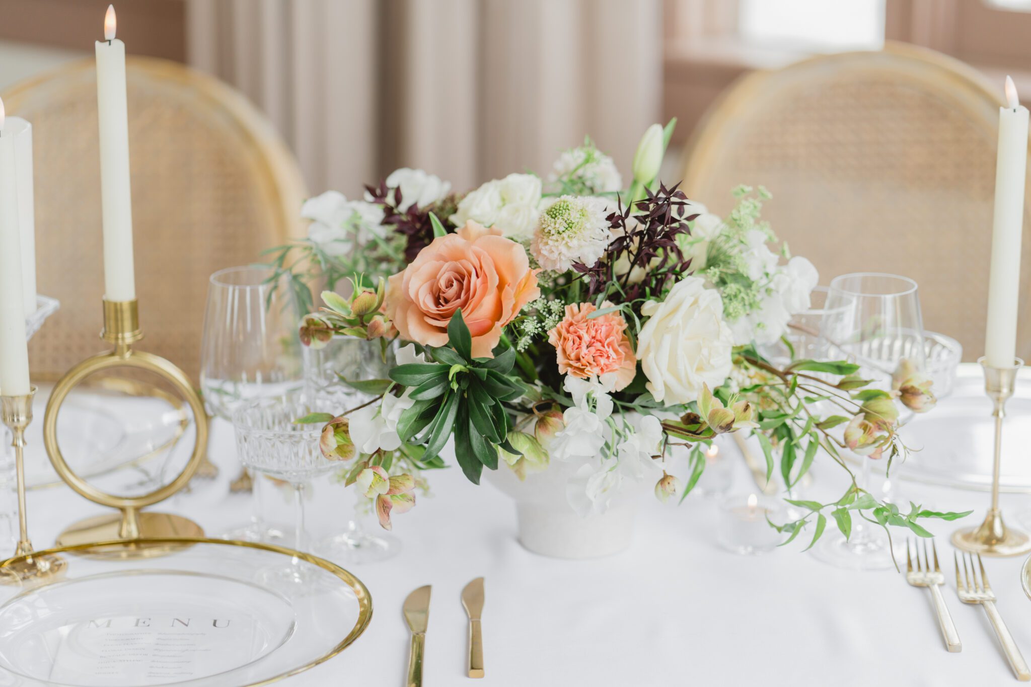
<instances>
[{"instance_id":1,"label":"clear plate seen through and behind the gold ring candle holder","mask_svg":"<svg viewBox=\"0 0 1031 687\"><path fill-rule=\"evenodd\" d=\"M178 399L156 394L153 388L113 388L112 383L105 380L103 386L73 390L61 409L58 435L68 438L62 442L65 458L86 479L140 469L124 479L108 480L108 488L122 492L129 483L154 477L149 472L160 470L160 466L151 463L168 455L193 418ZM43 449L42 407L52 388L51 384L40 385L38 417L26 436L25 479L30 489L64 484Z\"/></svg>"}]
</instances>

